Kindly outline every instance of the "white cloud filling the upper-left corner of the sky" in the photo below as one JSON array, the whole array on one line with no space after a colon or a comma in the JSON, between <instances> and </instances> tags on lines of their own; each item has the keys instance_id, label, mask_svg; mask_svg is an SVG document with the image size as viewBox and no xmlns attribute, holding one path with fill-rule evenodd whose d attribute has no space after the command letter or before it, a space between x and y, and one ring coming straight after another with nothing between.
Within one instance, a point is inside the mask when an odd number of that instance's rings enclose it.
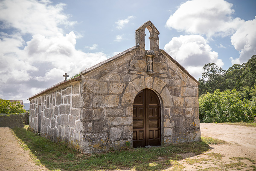
<instances>
[{"instance_id":1,"label":"white cloud filling the upper-left corner of the sky","mask_svg":"<svg viewBox=\"0 0 256 171\"><path fill-rule=\"evenodd\" d=\"M58 25L73 26L76 22L68 21L64 14L65 4L55 6L49 1L3 0L0 4L0 20L3 28L13 27L21 34L54 35L62 32Z\"/></svg>"}]
</instances>

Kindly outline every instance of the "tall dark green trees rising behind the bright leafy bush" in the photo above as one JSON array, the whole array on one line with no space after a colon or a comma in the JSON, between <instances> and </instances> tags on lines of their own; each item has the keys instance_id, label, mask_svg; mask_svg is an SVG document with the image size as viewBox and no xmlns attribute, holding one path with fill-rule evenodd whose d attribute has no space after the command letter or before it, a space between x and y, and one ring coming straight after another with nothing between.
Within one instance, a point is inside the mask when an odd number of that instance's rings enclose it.
<instances>
[{"instance_id":1,"label":"tall dark green trees rising behind the bright leafy bush","mask_svg":"<svg viewBox=\"0 0 256 171\"><path fill-rule=\"evenodd\" d=\"M227 71L214 63L204 65L202 78L199 78L199 96L215 90L240 91L242 99L250 100L256 96L256 55L247 63L233 64ZM204 80L204 78L206 80ZM254 93L253 93L254 92Z\"/></svg>"}]
</instances>

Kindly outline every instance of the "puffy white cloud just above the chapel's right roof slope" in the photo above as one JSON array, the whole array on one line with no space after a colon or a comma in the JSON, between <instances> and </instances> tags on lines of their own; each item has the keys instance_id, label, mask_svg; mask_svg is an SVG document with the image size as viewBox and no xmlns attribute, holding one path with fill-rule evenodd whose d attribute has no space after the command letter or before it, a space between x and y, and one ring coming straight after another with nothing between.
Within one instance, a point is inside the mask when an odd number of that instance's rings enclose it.
<instances>
[{"instance_id":1,"label":"puffy white cloud just above the chapel's right roof slope","mask_svg":"<svg viewBox=\"0 0 256 171\"><path fill-rule=\"evenodd\" d=\"M195 78L202 76L204 64L215 63L220 67L224 65L222 60L218 59L218 53L212 51L200 35L174 37L164 49Z\"/></svg>"}]
</instances>

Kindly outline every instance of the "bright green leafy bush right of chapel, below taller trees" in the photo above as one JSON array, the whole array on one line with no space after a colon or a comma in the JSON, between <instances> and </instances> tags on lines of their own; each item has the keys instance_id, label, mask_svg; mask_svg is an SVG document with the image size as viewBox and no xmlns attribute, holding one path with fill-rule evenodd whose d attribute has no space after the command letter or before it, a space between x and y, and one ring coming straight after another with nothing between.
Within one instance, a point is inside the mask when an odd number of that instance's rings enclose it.
<instances>
[{"instance_id":1,"label":"bright green leafy bush right of chapel, below taller trees","mask_svg":"<svg viewBox=\"0 0 256 171\"><path fill-rule=\"evenodd\" d=\"M241 100L236 90L203 94L199 98L200 122L255 122L256 98Z\"/></svg>"}]
</instances>

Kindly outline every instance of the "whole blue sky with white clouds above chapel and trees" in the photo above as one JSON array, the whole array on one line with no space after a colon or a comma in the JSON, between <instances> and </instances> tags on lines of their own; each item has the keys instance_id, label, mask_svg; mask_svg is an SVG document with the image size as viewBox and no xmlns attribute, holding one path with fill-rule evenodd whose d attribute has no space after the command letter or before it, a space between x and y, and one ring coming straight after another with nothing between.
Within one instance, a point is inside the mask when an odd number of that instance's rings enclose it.
<instances>
[{"instance_id":1,"label":"whole blue sky with white clouds above chapel and trees","mask_svg":"<svg viewBox=\"0 0 256 171\"><path fill-rule=\"evenodd\" d=\"M0 98L23 100L135 46L151 20L195 78L256 55L256 0L1 0ZM146 49L149 42L146 32Z\"/></svg>"}]
</instances>

